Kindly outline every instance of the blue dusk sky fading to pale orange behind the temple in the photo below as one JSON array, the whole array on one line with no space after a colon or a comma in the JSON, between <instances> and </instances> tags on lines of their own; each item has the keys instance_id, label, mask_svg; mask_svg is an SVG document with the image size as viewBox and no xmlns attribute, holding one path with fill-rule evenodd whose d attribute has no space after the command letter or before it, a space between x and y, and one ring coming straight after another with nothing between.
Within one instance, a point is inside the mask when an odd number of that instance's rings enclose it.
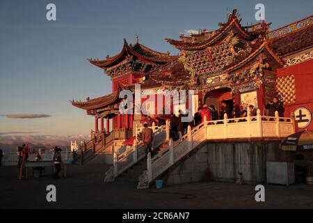
<instances>
[{"instance_id":1,"label":"blue dusk sky fading to pale orange behind the temple","mask_svg":"<svg viewBox=\"0 0 313 223\"><path fill-rule=\"evenodd\" d=\"M46 20L48 3L56 4L56 21ZM241 24L255 23L256 3L264 3L271 29L312 15L312 0L0 0L0 143L21 134L88 134L93 117L69 100L111 93L111 79L88 58L118 54L136 33L139 43L178 54L164 38L218 29L227 8L239 10Z\"/></svg>"}]
</instances>

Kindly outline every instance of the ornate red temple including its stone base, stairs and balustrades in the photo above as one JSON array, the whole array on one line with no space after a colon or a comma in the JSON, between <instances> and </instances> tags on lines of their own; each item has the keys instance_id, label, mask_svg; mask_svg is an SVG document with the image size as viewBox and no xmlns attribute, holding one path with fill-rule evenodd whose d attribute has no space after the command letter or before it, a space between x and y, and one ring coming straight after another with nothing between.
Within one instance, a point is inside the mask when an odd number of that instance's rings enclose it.
<instances>
[{"instance_id":1,"label":"ornate red temple including its stone base, stairs and balustrades","mask_svg":"<svg viewBox=\"0 0 313 223\"><path fill-rule=\"evenodd\" d=\"M113 164L104 182L125 178L147 188L156 179L166 185L190 183L208 173L214 180L234 182L241 173L246 183L257 183L266 182L268 162L294 162L296 153L280 150L280 143L294 132L313 130L313 15L272 31L270 25L262 21L242 26L233 10L217 30L166 39L179 49L177 56L145 47L137 37L134 45L125 40L118 55L90 59L111 77L112 93L72 105L95 117L84 154L92 150L92 155L104 155L97 156L99 162ZM177 92L179 99L167 98L167 90ZM181 100L186 91L193 93ZM283 103L284 117L277 111L269 115L266 105L273 97ZM135 106L127 104L123 112L125 102L132 100ZM198 107L220 107L223 100L231 109L246 107L247 116L204 118L194 128L188 125L176 141L170 138L169 121L152 124L157 154L145 155L140 133L147 116L167 119L179 109L193 115ZM249 105L256 114L250 114ZM147 165L138 164L145 157ZM312 160L312 153L305 159Z\"/></svg>"}]
</instances>

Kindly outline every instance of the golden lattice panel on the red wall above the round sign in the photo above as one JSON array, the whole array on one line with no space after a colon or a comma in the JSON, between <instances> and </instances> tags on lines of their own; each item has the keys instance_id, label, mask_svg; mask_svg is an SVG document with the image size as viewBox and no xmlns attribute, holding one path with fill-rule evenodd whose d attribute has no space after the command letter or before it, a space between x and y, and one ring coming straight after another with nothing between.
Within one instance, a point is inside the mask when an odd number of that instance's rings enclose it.
<instances>
[{"instance_id":1,"label":"golden lattice panel on the red wall above the round sign","mask_svg":"<svg viewBox=\"0 0 313 223\"><path fill-rule=\"evenodd\" d=\"M278 97L284 103L296 102L296 86L294 75L278 77L276 79Z\"/></svg>"}]
</instances>

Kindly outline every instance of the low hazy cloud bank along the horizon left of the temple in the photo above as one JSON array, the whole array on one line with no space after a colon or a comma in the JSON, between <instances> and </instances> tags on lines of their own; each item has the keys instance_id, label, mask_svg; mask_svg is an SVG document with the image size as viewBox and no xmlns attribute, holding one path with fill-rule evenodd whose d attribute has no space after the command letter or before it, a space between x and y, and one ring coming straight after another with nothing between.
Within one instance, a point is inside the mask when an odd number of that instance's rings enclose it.
<instances>
[{"instance_id":1,"label":"low hazy cloud bank along the horizon left of the temple","mask_svg":"<svg viewBox=\"0 0 313 223\"><path fill-rule=\"evenodd\" d=\"M70 142L76 140L88 141L89 136L86 134L79 135L6 135L0 134L0 144L6 145L22 145L29 144L31 146L70 146Z\"/></svg>"}]
</instances>

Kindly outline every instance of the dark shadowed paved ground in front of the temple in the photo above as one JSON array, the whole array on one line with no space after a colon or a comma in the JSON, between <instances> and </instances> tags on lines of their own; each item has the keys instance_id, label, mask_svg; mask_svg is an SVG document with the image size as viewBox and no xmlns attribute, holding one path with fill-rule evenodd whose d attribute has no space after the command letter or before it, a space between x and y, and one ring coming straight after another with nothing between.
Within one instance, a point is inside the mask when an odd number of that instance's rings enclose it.
<instances>
[{"instance_id":1,"label":"dark shadowed paved ground in front of the temple","mask_svg":"<svg viewBox=\"0 0 313 223\"><path fill-rule=\"evenodd\" d=\"M105 165L69 165L67 178L17 180L16 167L0 167L0 208L313 208L313 186L266 185L266 201L255 201L255 186L202 182L137 190L103 183ZM56 185L57 202L46 201Z\"/></svg>"}]
</instances>

